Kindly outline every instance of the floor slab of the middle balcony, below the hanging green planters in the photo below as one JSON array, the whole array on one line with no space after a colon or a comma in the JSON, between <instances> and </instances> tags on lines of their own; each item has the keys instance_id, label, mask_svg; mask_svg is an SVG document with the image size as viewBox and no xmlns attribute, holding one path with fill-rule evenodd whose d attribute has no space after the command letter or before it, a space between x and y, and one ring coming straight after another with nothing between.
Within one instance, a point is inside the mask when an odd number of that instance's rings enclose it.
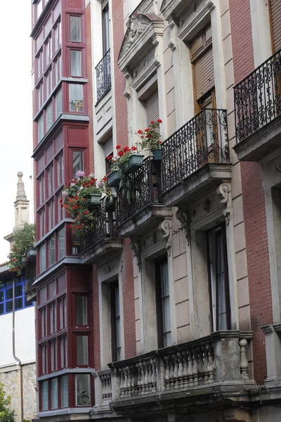
<instances>
[{"instance_id":1,"label":"floor slab of the middle balcony, below the hanging green planters","mask_svg":"<svg viewBox=\"0 0 281 422\"><path fill-rule=\"evenodd\" d=\"M141 237L159 226L164 219L171 217L171 208L159 204L148 205L124 223L119 224L117 230L122 237Z\"/></svg>"}]
</instances>

